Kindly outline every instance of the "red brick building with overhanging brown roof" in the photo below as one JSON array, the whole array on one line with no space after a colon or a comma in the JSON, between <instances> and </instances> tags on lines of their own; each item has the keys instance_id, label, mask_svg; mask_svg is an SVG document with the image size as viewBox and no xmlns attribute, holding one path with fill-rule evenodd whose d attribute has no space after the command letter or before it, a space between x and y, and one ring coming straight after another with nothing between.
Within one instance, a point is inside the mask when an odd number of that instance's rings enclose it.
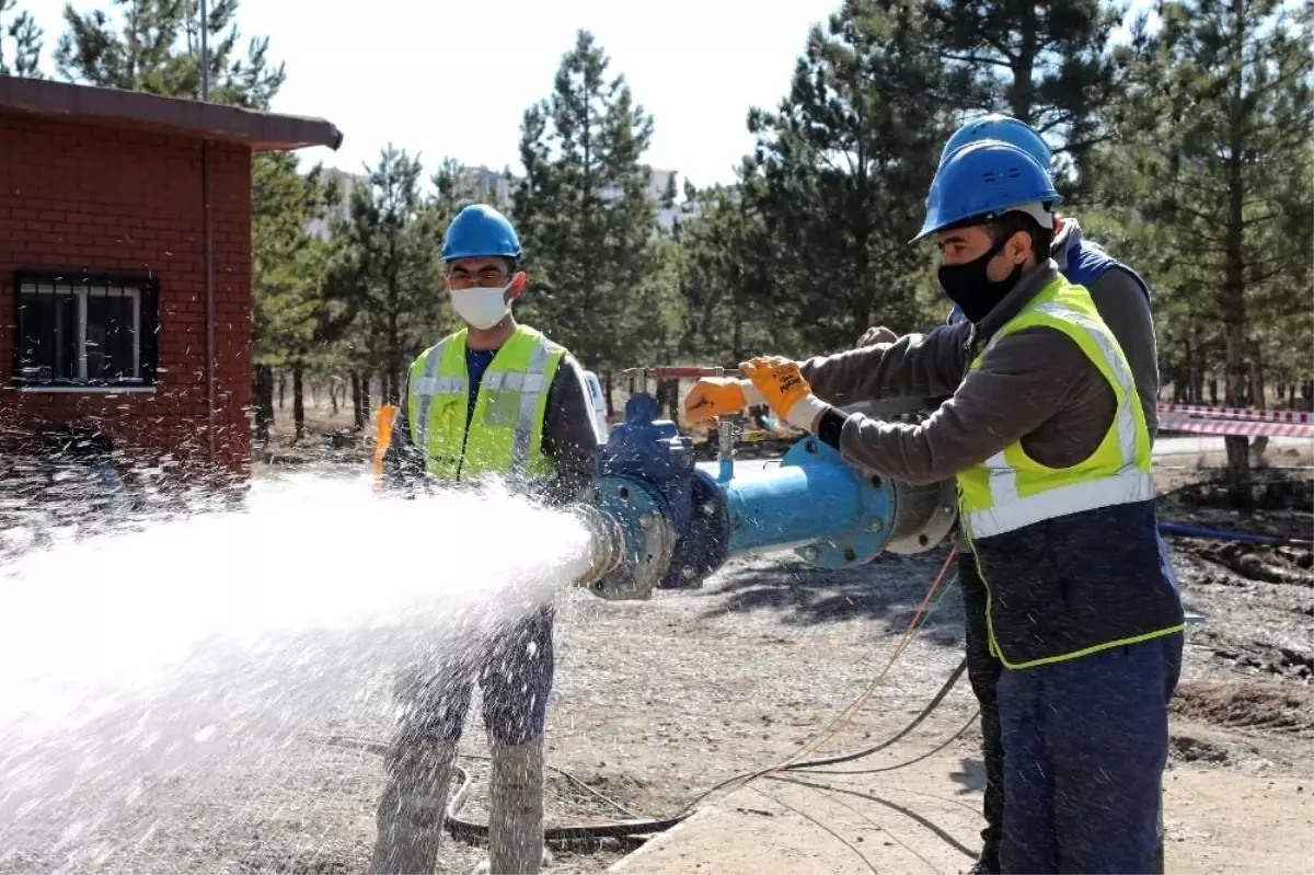
<instances>
[{"instance_id":1,"label":"red brick building with overhanging brown roof","mask_svg":"<svg viewBox=\"0 0 1314 875\"><path fill-rule=\"evenodd\" d=\"M340 142L318 118L0 76L0 460L89 423L134 461L248 473L252 154Z\"/></svg>"}]
</instances>

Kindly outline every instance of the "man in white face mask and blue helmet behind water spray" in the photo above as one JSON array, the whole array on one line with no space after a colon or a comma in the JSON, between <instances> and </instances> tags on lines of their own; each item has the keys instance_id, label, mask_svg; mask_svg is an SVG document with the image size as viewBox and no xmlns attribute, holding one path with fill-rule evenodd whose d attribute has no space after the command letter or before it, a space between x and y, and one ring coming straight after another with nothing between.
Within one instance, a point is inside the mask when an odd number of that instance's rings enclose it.
<instances>
[{"instance_id":1,"label":"man in white face mask and blue helmet behind water spray","mask_svg":"<svg viewBox=\"0 0 1314 875\"><path fill-rule=\"evenodd\" d=\"M570 353L511 315L526 288L515 229L491 206L466 206L447 229L442 258L443 282L464 327L411 364L384 453L384 486L409 491L498 478L555 505L578 498L598 445L593 406ZM489 858L477 871L532 875L545 864L543 732L552 627L552 604L541 604L491 646L456 648L436 667L407 673L377 812L374 875L434 871L476 681L493 754Z\"/></svg>"}]
</instances>

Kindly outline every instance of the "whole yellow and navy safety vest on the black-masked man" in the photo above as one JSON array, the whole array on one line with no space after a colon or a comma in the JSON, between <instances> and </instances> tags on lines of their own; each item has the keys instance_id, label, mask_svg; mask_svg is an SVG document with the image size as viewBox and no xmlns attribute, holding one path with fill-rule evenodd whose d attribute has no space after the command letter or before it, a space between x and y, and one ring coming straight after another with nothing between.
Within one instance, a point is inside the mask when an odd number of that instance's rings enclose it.
<instances>
[{"instance_id":1,"label":"whole yellow and navy safety vest on the black-masked man","mask_svg":"<svg viewBox=\"0 0 1314 875\"><path fill-rule=\"evenodd\" d=\"M1020 552L1025 552L1025 549L1014 549L1021 543L1014 544L1013 540L1028 537L1022 529L1046 520L1100 511L1120 505L1147 502L1155 497L1150 432L1146 426L1144 410L1137 395L1131 368L1113 338L1113 332L1100 317L1089 292L1083 286L1072 285L1062 275L1056 276L1016 317L995 332L986 348L972 360L971 370L980 368L986 353L996 343L1010 334L1037 326L1062 331L1080 347L1113 389L1117 413L1097 449L1088 459L1071 468L1042 465L1026 455L1021 440L1018 440L984 462L958 474L959 520L976 554L978 570L987 586L987 624L991 649L1009 669L1060 662L1108 648L1171 635L1184 628L1173 617L1168 625L1159 628L1122 629L1118 627L1117 631L1092 631L1089 640L1081 641L1067 652L1045 653L1038 658L1014 657L1013 661L999 645L996 620L992 616L993 602L997 596L996 590L1007 590L1009 586L1018 585L1018 581L995 581L992 586L991 561L983 561L983 556L989 556L1001 564L1007 562L1013 572L1018 569L1034 572L1034 577L1028 575L1033 582L1045 578L1053 581L1058 573L1054 568L1046 569L1043 560L1030 562L1020 556ZM1074 523L1081 524L1076 520ZM1092 519L1089 524L1097 526L1099 523ZM1142 536L1150 539L1147 544L1156 543L1158 535L1152 531L1152 523L1150 531L1138 535L1138 537ZM1051 537L1051 535L1045 537ZM1158 574L1158 568L1152 569L1152 573ZM1126 577L1129 586L1134 586L1130 582L1133 577L1137 575L1127 574ZM1137 579L1144 578L1138 577ZM1055 585L1059 583L1055 581ZM1012 595L1016 600L1018 591L1014 590ZM1167 598L1166 600L1171 602ZM1110 611L1117 611L1117 608L1118 606L1110 604ZM1169 606L1163 611L1162 619L1167 619L1172 608ZM1180 614L1180 607L1177 611ZM1152 617L1150 625L1155 625Z\"/></svg>"}]
</instances>

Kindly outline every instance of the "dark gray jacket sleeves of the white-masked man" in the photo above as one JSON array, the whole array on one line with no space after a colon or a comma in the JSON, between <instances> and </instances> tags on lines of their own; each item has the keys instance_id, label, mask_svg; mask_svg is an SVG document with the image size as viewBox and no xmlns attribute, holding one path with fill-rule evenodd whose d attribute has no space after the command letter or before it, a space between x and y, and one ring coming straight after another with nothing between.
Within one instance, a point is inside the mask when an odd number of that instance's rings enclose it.
<instances>
[{"instance_id":1,"label":"dark gray jacket sleeves of the white-masked man","mask_svg":"<svg viewBox=\"0 0 1314 875\"><path fill-rule=\"evenodd\" d=\"M407 394L410 385L406 386ZM411 441L406 402L393 422L392 440L384 453L384 485L398 491L413 491L427 477L424 455ZM468 427L468 426L466 426ZM541 498L552 505L576 501L581 490L593 482L594 449L598 430L593 420L593 405L585 388L583 369L566 353L548 388L548 409L543 423L543 453L552 459L553 477Z\"/></svg>"}]
</instances>

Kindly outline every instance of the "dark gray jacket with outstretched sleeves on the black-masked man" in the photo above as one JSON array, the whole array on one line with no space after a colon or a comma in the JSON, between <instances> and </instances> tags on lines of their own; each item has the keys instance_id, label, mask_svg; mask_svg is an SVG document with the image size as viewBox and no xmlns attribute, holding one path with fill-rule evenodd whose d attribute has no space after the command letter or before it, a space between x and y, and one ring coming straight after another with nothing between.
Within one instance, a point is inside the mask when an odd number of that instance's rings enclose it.
<instances>
[{"instance_id":1,"label":"dark gray jacket with outstretched sleeves on the black-masked man","mask_svg":"<svg viewBox=\"0 0 1314 875\"><path fill-rule=\"evenodd\" d=\"M976 370L967 370L975 351L1056 272L1047 260L1024 276L980 326L941 326L803 363L803 376L816 395L830 403L949 395L917 424L849 416L840 438L842 456L911 483L929 483L980 464L1017 440L1038 462L1055 468L1075 465L1095 452L1113 422L1114 394L1064 334L1024 328L1000 340Z\"/></svg>"}]
</instances>

